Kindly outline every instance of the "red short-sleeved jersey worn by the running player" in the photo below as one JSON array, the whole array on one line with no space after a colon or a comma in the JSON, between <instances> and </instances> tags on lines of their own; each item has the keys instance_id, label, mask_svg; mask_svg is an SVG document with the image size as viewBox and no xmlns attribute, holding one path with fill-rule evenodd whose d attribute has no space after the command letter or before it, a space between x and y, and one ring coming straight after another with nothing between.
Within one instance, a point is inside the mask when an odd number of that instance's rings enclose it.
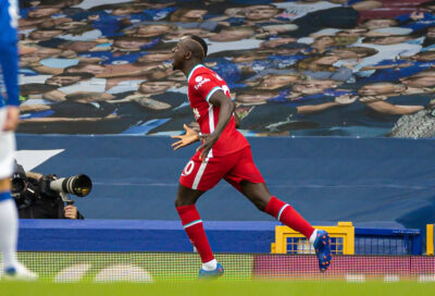
<instances>
[{"instance_id":1,"label":"red short-sleeved jersey worn by the running player","mask_svg":"<svg viewBox=\"0 0 435 296\"><path fill-rule=\"evenodd\" d=\"M217 73L202 64L190 71L187 83L187 96L201 133L211 134L217 125L220 108L209 103L209 99L215 91L222 90L231 100L229 88ZM211 156L229 155L248 146L248 140L236 130L236 122L232 115L225 130L213 145Z\"/></svg>"}]
</instances>

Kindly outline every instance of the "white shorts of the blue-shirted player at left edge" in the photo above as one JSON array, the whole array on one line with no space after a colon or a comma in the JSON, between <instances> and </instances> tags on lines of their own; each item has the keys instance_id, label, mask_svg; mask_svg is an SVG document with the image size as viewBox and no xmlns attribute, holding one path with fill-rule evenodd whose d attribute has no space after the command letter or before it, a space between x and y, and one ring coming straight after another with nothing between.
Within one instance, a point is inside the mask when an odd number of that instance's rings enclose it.
<instances>
[{"instance_id":1,"label":"white shorts of the blue-shirted player at left edge","mask_svg":"<svg viewBox=\"0 0 435 296\"><path fill-rule=\"evenodd\" d=\"M10 177L14 165L15 135L3 132L7 109L0 108L0 180Z\"/></svg>"}]
</instances>

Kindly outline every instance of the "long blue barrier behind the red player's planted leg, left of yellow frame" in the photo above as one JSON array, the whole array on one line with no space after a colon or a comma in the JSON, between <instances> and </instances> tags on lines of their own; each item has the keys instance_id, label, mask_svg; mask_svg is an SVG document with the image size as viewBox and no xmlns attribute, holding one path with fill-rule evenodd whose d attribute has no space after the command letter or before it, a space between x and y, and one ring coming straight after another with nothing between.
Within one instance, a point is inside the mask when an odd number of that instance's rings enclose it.
<instances>
[{"instance_id":1,"label":"long blue barrier behind the red player's planted leg, left of yellow frame","mask_svg":"<svg viewBox=\"0 0 435 296\"><path fill-rule=\"evenodd\" d=\"M270 252L275 222L204 222L216 252ZM20 220L18 250L192 251L178 221Z\"/></svg>"}]
</instances>

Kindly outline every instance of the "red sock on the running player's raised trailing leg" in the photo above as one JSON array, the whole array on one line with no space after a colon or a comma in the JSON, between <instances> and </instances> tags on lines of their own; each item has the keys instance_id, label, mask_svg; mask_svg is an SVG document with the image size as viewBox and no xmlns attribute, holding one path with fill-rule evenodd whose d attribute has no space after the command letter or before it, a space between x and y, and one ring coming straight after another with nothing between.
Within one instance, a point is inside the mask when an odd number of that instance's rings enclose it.
<instances>
[{"instance_id":1,"label":"red sock on the running player's raised trailing leg","mask_svg":"<svg viewBox=\"0 0 435 296\"><path fill-rule=\"evenodd\" d=\"M300 232L307 238L310 238L314 229L290 205L272 197L264 210L270 215L273 215L283 224L290 229Z\"/></svg>"}]
</instances>

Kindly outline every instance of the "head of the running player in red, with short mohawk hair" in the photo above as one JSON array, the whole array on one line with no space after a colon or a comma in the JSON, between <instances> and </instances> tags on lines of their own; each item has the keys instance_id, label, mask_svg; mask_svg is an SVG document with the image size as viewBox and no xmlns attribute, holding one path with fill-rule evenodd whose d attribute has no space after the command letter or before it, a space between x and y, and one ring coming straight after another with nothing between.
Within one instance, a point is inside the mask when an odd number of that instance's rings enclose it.
<instances>
[{"instance_id":1,"label":"head of the running player in red, with short mohawk hair","mask_svg":"<svg viewBox=\"0 0 435 296\"><path fill-rule=\"evenodd\" d=\"M196 35L185 36L173 48L174 61L172 66L174 70L182 70L187 61L202 63L207 57L206 41Z\"/></svg>"}]
</instances>

